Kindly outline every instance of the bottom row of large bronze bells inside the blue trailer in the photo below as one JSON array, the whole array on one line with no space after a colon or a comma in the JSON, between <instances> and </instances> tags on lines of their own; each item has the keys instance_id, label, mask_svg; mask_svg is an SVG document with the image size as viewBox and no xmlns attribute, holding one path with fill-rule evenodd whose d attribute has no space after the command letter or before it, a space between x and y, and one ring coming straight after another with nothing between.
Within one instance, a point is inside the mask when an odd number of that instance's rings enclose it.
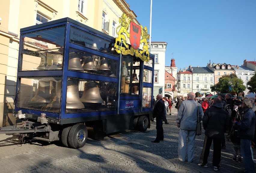
<instances>
[{"instance_id":1,"label":"bottom row of large bronze bells inside the blue trailer","mask_svg":"<svg viewBox=\"0 0 256 173\"><path fill-rule=\"evenodd\" d=\"M31 99L32 102L49 103L48 107L59 108L61 95L61 80L58 81L57 89L53 85L55 81L39 80L38 90ZM53 89L52 89L53 88ZM55 91L55 92L54 92ZM51 98L49 96L52 96ZM87 82L84 84L84 93L79 98L78 81L69 79L67 81L66 109L83 109L82 103L104 103L100 96L99 83Z\"/></svg>"}]
</instances>

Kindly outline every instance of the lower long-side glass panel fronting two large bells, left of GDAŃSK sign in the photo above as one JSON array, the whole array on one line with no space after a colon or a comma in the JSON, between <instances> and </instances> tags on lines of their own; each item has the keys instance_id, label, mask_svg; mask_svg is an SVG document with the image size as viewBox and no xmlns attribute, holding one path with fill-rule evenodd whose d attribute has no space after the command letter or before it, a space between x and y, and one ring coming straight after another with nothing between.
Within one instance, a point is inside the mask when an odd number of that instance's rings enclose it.
<instances>
[{"instance_id":1,"label":"lower long-side glass panel fronting two large bells, left of GDA\u0143SK sign","mask_svg":"<svg viewBox=\"0 0 256 173\"><path fill-rule=\"evenodd\" d=\"M116 110L117 83L68 77L66 113Z\"/></svg>"}]
</instances>

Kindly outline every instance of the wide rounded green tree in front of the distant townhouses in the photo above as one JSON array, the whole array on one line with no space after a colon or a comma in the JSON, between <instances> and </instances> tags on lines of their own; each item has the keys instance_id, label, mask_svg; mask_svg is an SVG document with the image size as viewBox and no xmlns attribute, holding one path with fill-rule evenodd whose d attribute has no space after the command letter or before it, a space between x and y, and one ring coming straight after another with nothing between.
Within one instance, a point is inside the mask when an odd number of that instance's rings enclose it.
<instances>
[{"instance_id":1,"label":"wide rounded green tree in front of the distant townhouses","mask_svg":"<svg viewBox=\"0 0 256 173\"><path fill-rule=\"evenodd\" d=\"M231 89L231 90L230 90ZM238 95L244 91L246 87L243 85L242 79L238 79L236 74L227 74L220 77L219 82L211 87L212 92L233 93Z\"/></svg>"}]
</instances>

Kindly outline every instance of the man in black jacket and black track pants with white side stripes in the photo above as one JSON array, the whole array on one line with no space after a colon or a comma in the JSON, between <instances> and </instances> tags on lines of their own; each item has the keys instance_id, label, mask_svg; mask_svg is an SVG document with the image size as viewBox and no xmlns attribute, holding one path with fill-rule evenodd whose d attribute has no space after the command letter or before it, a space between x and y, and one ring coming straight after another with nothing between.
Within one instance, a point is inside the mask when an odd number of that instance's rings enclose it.
<instances>
[{"instance_id":1,"label":"man in black jacket and black track pants with white side stripes","mask_svg":"<svg viewBox=\"0 0 256 173\"><path fill-rule=\"evenodd\" d=\"M205 129L205 139L200 161L197 165L208 167L208 156L213 141L213 170L218 171L221 162L221 140L224 138L224 132L228 128L228 113L221 105L221 99L213 99L211 108L206 109L203 116L203 129Z\"/></svg>"}]
</instances>

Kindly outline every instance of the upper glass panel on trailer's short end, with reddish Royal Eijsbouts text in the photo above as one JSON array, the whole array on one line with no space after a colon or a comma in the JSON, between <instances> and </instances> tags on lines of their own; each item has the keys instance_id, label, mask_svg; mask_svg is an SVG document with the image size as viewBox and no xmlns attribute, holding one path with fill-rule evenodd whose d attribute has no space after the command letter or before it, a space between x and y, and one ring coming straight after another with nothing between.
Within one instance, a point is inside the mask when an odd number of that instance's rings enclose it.
<instances>
[{"instance_id":1,"label":"upper glass panel on trailer's short end, with reddish Royal Eijsbouts text","mask_svg":"<svg viewBox=\"0 0 256 173\"><path fill-rule=\"evenodd\" d=\"M64 26L22 35L19 70L62 70L64 36Z\"/></svg>"}]
</instances>

